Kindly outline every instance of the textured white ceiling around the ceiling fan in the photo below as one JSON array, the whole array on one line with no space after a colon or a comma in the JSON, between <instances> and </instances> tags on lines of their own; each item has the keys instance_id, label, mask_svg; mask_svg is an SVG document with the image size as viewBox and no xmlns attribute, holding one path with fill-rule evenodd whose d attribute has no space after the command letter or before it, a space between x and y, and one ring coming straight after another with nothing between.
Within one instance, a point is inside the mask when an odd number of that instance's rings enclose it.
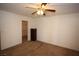
<instances>
[{"instance_id":1,"label":"textured white ceiling around the ceiling fan","mask_svg":"<svg viewBox=\"0 0 79 59\"><path fill-rule=\"evenodd\" d=\"M36 6L34 3L0 3L0 10L13 12L16 14L31 16L35 9L25 8L27 6ZM79 3L50 3L48 7L56 9L56 15L67 13L78 13Z\"/></svg>"}]
</instances>

